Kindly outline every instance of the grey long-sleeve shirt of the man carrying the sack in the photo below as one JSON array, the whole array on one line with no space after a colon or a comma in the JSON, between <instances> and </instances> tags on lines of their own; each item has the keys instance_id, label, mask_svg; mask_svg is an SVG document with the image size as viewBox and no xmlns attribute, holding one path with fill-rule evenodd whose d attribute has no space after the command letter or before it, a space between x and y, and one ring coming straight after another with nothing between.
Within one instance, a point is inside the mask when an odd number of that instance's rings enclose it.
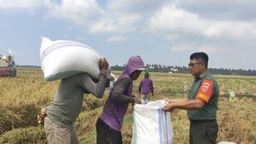
<instances>
[{"instance_id":1,"label":"grey long-sleeve shirt of the man carrying the sack","mask_svg":"<svg viewBox=\"0 0 256 144\"><path fill-rule=\"evenodd\" d=\"M106 73L100 72L100 79L95 84L88 74L61 79L54 100L47 108L47 117L57 125L71 127L79 116L84 93L92 93L102 98L106 88Z\"/></svg>"}]
</instances>

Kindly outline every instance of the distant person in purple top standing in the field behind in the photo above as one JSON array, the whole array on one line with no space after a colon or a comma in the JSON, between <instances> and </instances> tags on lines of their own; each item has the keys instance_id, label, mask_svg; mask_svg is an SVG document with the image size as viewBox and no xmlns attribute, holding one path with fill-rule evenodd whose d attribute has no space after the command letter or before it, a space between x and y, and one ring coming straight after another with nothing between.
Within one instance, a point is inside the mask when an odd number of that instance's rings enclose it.
<instances>
[{"instance_id":1,"label":"distant person in purple top standing in the field behind","mask_svg":"<svg viewBox=\"0 0 256 144\"><path fill-rule=\"evenodd\" d=\"M154 96L153 81L149 78L149 73L145 72L144 79L141 80L139 85L139 93L141 93L141 100L147 102Z\"/></svg>"}]
</instances>

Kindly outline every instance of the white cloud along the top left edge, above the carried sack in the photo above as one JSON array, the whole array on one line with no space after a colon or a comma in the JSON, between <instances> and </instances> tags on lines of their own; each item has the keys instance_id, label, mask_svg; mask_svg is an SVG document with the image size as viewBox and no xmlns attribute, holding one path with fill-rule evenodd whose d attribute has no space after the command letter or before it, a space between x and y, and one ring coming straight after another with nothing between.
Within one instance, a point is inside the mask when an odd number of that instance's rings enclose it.
<instances>
[{"instance_id":1,"label":"white cloud along the top left edge, above the carried sack","mask_svg":"<svg viewBox=\"0 0 256 144\"><path fill-rule=\"evenodd\" d=\"M89 26L104 15L96 0L0 0L0 10L4 12L34 12L40 8L46 10L45 18L66 18L79 26Z\"/></svg>"}]
</instances>

